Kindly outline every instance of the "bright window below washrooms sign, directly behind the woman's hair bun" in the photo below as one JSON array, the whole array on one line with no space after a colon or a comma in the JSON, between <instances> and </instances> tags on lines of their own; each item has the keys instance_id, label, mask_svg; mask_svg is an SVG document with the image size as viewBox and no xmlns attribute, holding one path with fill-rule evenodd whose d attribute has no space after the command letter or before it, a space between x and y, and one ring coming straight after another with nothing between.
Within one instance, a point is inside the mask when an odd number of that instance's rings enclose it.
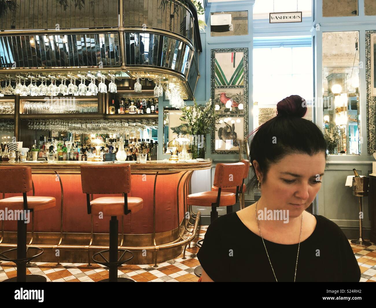
<instances>
[{"instance_id":1,"label":"bright window below washrooms sign, directly behind the woman's hair bun","mask_svg":"<svg viewBox=\"0 0 376 308\"><path fill-rule=\"evenodd\" d=\"M312 120L312 47L253 49L253 129L276 115L277 103L300 95L308 103L305 118Z\"/></svg>"}]
</instances>

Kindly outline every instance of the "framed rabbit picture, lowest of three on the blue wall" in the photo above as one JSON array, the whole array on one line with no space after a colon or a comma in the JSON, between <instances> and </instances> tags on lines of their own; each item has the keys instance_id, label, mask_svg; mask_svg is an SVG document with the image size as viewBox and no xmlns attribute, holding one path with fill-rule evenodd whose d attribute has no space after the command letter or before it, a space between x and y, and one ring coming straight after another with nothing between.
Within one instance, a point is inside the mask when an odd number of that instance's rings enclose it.
<instances>
[{"instance_id":1,"label":"framed rabbit picture, lowest of three on the blue wall","mask_svg":"<svg viewBox=\"0 0 376 308\"><path fill-rule=\"evenodd\" d=\"M234 154L239 151L239 140L244 140L248 131L244 117L225 116L218 118L219 123L212 130L212 153Z\"/></svg>"}]
</instances>

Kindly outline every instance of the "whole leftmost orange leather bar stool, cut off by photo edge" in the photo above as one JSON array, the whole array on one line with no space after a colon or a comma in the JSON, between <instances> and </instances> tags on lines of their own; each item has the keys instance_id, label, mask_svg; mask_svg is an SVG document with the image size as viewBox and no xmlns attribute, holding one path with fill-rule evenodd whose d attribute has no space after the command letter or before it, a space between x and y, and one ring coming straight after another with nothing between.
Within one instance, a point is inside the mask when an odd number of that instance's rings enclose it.
<instances>
[{"instance_id":1,"label":"whole leftmost orange leather bar stool, cut off by photo edge","mask_svg":"<svg viewBox=\"0 0 376 308\"><path fill-rule=\"evenodd\" d=\"M31 168L29 166L9 166L0 167L0 193L22 193L22 196L9 197L0 200L0 209L11 209L18 211L17 217L17 248L6 250L0 253L0 259L3 261L15 262L17 264L17 277L6 279L9 282L46 282L47 279L41 275L26 275L26 263L35 259L43 253L39 247L27 247L27 225L26 217L30 212L42 211L53 208L56 200L53 197L26 196L26 193L32 190ZM16 213L16 212L15 212ZM14 215L16 219L16 214ZM29 250L37 250L36 255L28 256ZM17 251L17 258L11 258L10 252Z\"/></svg>"}]
</instances>

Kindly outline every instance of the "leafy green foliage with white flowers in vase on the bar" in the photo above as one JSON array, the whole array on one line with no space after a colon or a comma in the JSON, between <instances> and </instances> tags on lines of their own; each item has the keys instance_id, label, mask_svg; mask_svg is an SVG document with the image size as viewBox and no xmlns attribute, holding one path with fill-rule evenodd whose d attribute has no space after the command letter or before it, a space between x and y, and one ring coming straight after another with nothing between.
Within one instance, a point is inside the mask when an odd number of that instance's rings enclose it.
<instances>
[{"instance_id":1,"label":"leafy green foliage with white flowers in vase on the bar","mask_svg":"<svg viewBox=\"0 0 376 308\"><path fill-rule=\"evenodd\" d=\"M218 124L218 113L215 112L211 99L205 105L198 105L193 98L193 106L184 106L180 120L187 124L189 135L206 135L211 132L212 127ZM215 130L217 130L215 128Z\"/></svg>"}]
</instances>

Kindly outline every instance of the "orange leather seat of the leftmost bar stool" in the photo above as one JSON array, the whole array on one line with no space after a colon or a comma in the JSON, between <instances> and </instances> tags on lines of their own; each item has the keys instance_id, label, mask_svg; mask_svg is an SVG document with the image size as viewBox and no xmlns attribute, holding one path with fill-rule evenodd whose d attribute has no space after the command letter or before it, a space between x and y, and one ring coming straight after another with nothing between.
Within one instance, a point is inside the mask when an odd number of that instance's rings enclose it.
<instances>
[{"instance_id":1,"label":"orange leather seat of the leftmost bar stool","mask_svg":"<svg viewBox=\"0 0 376 308\"><path fill-rule=\"evenodd\" d=\"M43 211L44 209L53 208L56 205L54 197L27 196L27 208L33 209L34 212ZM0 208L9 207L13 210L24 210L23 196L9 197L0 200Z\"/></svg>"}]
</instances>

